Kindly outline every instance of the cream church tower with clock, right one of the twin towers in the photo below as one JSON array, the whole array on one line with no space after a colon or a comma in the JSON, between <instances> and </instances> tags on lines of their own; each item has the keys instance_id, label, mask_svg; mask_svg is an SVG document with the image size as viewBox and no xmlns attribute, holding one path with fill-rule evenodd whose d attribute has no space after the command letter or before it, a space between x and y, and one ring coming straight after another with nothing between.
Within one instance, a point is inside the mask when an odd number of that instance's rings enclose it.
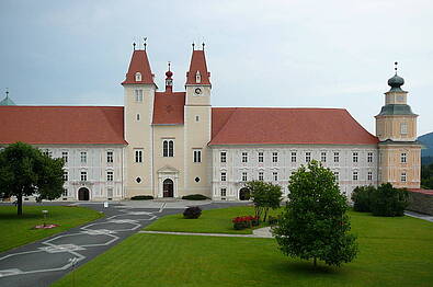
<instances>
[{"instance_id":1,"label":"cream church tower with clock, right one of the twin towers","mask_svg":"<svg viewBox=\"0 0 433 287\"><path fill-rule=\"evenodd\" d=\"M185 190L191 193L212 197L212 152L207 147L212 129L212 85L204 47L205 44L202 45L202 49L195 49L193 44L190 70L186 72L184 183Z\"/></svg>"}]
</instances>

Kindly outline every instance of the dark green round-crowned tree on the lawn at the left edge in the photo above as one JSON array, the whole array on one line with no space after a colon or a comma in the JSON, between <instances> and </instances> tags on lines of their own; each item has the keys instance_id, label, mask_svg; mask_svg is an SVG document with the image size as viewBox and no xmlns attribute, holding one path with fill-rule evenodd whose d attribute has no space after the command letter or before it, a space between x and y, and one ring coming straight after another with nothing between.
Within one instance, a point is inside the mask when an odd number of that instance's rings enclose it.
<instances>
[{"instance_id":1,"label":"dark green round-crowned tree on the lawn at the left edge","mask_svg":"<svg viewBox=\"0 0 433 287\"><path fill-rule=\"evenodd\" d=\"M23 213L23 196L56 199L64 192L62 159L52 159L41 150L15 142L0 151L0 194L15 196L18 215Z\"/></svg>"}]
</instances>

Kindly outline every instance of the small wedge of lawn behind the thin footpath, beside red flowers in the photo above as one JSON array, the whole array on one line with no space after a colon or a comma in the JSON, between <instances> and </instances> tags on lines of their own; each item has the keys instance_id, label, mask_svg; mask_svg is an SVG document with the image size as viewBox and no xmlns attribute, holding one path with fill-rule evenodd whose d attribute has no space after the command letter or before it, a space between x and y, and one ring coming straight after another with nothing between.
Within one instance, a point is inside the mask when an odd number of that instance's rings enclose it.
<instances>
[{"instance_id":1,"label":"small wedge of lawn behind the thin footpath, beside red flowers","mask_svg":"<svg viewBox=\"0 0 433 287\"><path fill-rule=\"evenodd\" d=\"M275 216L281 209L271 210ZM254 215L252 206L237 206L221 209L203 210L198 219L184 219L183 215L164 216L144 230L171 232L202 232L202 233L230 233L251 234L251 229L235 230L231 219L237 216ZM260 226L263 227L263 226ZM259 228L260 228L259 227Z\"/></svg>"}]
</instances>

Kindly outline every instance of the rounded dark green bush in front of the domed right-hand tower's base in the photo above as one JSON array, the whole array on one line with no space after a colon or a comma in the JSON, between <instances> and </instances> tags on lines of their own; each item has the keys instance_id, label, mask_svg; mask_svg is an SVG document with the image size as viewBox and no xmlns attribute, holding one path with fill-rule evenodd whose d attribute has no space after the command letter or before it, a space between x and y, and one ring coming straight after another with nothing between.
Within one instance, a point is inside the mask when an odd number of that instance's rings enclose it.
<instances>
[{"instance_id":1,"label":"rounded dark green bush in front of the domed right-hand tower's base","mask_svg":"<svg viewBox=\"0 0 433 287\"><path fill-rule=\"evenodd\" d=\"M372 195L371 210L374 216L403 216L408 197L407 190L381 184Z\"/></svg>"}]
</instances>

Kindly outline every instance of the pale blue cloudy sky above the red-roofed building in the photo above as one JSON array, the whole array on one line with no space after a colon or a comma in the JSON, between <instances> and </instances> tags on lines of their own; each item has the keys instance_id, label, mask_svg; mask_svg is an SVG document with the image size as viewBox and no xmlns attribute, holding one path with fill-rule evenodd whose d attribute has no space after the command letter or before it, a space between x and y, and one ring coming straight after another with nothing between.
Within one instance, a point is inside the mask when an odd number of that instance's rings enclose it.
<instances>
[{"instance_id":1,"label":"pale blue cloudy sky above the red-roofed building","mask_svg":"<svg viewBox=\"0 0 433 287\"><path fill-rule=\"evenodd\" d=\"M423 0L0 1L0 99L123 105L133 43L163 90L184 90L205 43L213 106L346 108L375 134L394 62L419 135L433 131L433 2Z\"/></svg>"}]
</instances>

